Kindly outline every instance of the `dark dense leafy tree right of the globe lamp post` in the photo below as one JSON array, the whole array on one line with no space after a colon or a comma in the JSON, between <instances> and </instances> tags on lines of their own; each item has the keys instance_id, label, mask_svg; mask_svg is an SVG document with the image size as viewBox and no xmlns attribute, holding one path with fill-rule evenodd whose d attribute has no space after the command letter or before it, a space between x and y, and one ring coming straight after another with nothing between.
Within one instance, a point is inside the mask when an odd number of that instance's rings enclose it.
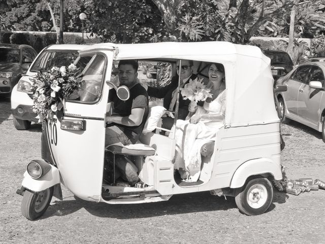
<instances>
[{"instance_id":1,"label":"dark dense leafy tree right of the globe lamp post","mask_svg":"<svg viewBox=\"0 0 325 244\"><path fill-rule=\"evenodd\" d=\"M89 31L105 41L150 42L168 32L151 0L91 0L86 9Z\"/></svg>"}]
</instances>

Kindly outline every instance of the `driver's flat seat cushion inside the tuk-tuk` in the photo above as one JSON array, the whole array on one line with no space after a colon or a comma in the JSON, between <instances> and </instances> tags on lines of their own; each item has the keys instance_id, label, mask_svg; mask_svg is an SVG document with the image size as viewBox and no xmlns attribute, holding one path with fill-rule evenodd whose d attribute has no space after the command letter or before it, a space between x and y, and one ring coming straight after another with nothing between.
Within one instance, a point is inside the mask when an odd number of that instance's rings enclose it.
<instances>
[{"instance_id":1,"label":"driver's flat seat cushion inside the tuk-tuk","mask_svg":"<svg viewBox=\"0 0 325 244\"><path fill-rule=\"evenodd\" d=\"M134 155L134 156L152 156L155 155L156 150L151 146L136 143L129 145L113 144L105 148L107 151L111 151L113 154Z\"/></svg>"}]
</instances>

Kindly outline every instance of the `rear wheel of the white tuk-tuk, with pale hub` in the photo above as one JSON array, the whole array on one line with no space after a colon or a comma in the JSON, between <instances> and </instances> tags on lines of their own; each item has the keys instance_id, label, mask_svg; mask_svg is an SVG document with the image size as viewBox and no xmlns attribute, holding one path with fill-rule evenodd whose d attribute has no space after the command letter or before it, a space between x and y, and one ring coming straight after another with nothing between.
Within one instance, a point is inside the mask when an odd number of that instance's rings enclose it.
<instances>
[{"instance_id":1,"label":"rear wheel of the white tuk-tuk, with pale hub","mask_svg":"<svg viewBox=\"0 0 325 244\"><path fill-rule=\"evenodd\" d=\"M240 211L253 216L263 214L271 205L273 187L267 178L256 177L236 191L235 201Z\"/></svg>"}]
</instances>

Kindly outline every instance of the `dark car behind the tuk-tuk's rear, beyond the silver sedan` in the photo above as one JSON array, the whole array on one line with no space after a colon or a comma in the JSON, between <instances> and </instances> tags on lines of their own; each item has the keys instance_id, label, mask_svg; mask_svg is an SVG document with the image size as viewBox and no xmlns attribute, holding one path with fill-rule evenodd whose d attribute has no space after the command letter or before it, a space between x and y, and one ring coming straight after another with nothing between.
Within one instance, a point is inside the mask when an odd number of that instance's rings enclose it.
<instances>
[{"instance_id":1,"label":"dark car behind the tuk-tuk's rear, beyond the silver sedan","mask_svg":"<svg viewBox=\"0 0 325 244\"><path fill-rule=\"evenodd\" d=\"M294 68L289 54L280 50L264 50L263 53L271 58L271 71L274 82Z\"/></svg>"}]
</instances>

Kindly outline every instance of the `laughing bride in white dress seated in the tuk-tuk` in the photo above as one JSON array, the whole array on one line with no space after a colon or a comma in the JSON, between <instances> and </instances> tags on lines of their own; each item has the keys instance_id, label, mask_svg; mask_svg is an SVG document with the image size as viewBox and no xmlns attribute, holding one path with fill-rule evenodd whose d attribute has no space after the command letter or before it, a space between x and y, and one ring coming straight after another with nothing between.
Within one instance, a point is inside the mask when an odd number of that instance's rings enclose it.
<instances>
[{"instance_id":1,"label":"laughing bride in white dress seated in the tuk-tuk","mask_svg":"<svg viewBox=\"0 0 325 244\"><path fill-rule=\"evenodd\" d=\"M209 67L209 83L212 99L203 107L197 106L189 120L177 120L175 130L176 152L174 169L189 182L196 182L201 173L201 146L214 140L217 126L223 124L225 113L224 68L221 64ZM172 135L170 135L172 137Z\"/></svg>"}]
</instances>

